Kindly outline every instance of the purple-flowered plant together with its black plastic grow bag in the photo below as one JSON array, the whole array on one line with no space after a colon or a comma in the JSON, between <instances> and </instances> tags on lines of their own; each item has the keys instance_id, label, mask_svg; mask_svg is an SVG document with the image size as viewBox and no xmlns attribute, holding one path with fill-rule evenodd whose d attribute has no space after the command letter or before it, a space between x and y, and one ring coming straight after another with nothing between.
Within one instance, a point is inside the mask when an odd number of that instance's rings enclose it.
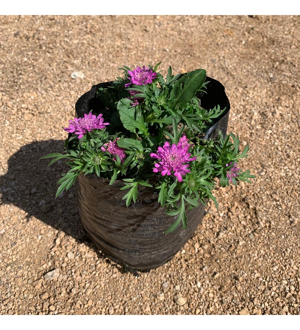
<instances>
[{"instance_id":1,"label":"purple-flowered plant together with its black plastic grow bag","mask_svg":"<svg viewBox=\"0 0 300 330\"><path fill-rule=\"evenodd\" d=\"M121 68L124 78L95 85L76 103L64 153L83 227L113 260L147 270L171 259L201 222L217 182L250 182L239 138L226 135L224 87L197 69L166 79L154 68Z\"/></svg>"}]
</instances>

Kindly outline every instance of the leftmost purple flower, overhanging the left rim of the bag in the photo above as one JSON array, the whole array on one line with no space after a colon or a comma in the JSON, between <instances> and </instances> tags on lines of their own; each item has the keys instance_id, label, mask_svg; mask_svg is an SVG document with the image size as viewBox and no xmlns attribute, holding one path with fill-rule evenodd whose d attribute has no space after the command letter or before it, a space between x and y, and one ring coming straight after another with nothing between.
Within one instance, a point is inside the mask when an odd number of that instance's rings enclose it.
<instances>
[{"instance_id":1,"label":"leftmost purple flower, overhanging the left rim of the bag","mask_svg":"<svg viewBox=\"0 0 300 330\"><path fill-rule=\"evenodd\" d=\"M103 121L102 114L96 117L96 115L92 115L89 112L88 115L84 114L84 117L74 118L74 121L70 119L69 127L66 127L64 130L77 134L78 139L81 139L86 132L91 132L93 129L105 128L105 125L109 125L109 123L104 123Z\"/></svg>"}]
</instances>

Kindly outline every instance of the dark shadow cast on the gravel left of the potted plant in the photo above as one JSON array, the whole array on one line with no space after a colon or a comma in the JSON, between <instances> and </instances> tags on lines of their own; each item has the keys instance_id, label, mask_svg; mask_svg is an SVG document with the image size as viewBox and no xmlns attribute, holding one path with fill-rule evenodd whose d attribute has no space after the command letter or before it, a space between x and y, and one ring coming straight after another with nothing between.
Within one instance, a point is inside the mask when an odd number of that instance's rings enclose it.
<instances>
[{"instance_id":1,"label":"dark shadow cast on the gravel left of the potted plant","mask_svg":"<svg viewBox=\"0 0 300 330\"><path fill-rule=\"evenodd\" d=\"M64 161L47 167L50 159L39 158L51 153L62 152L62 140L32 142L22 146L8 160L8 172L0 177L1 204L14 204L24 210L27 221L32 216L47 225L72 236L78 243L93 248L98 258L115 264L92 243L85 233L77 209L76 190L72 187L55 199L56 182L68 171ZM36 237L39 232L37 231ZM122 273L136 271L115 264Z\"/></svg>"}]
</instances>

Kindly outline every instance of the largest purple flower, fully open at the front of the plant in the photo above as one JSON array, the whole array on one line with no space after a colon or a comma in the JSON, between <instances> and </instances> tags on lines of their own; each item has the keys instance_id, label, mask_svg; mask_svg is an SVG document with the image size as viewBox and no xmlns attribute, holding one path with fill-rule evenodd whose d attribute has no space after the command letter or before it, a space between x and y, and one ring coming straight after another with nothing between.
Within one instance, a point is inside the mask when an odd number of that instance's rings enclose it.
<instances>
[{"instance_id":1,"label":"largest purple flower, fully open at the front of the plant","mask_svg":"<svg viewBox=\"0 0 300 330\"><path fill-rule=\"evenodd\" d=\"M170 143L166 141L163 148L158 147L157 153L150 154L152 158L159 159L159 162L154 164L153 172L161 172L162 176L171 175L174 172L178 181L182 182L182 176L190 172L189 164L186 163L196 159L196 157L190 158L188 148L187 145L183 147L181 142L170 146Z\"/></svg>"}]
</instances>

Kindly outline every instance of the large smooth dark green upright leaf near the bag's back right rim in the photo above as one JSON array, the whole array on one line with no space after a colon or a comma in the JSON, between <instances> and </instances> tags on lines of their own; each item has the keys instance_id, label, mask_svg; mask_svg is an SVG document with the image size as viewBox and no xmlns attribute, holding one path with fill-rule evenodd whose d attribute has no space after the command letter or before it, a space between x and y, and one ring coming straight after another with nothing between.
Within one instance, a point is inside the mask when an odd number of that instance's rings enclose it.
<instances>
[{"instance_id":1,"label":"large smooth dark green upright leaf near the bag's back right rim","mask_svg":"<svg viewBox=\"0 0 300 330\"><path fill-rule=\"evenodd\" d=\"M175 82L170 93L170 99L176 99L173 109L176 109L178 106L184 106L189 100L191 100L201 88L205 78L206 71L203 69L197 69L189 72Z\"/></svg>"}]
</instances>

